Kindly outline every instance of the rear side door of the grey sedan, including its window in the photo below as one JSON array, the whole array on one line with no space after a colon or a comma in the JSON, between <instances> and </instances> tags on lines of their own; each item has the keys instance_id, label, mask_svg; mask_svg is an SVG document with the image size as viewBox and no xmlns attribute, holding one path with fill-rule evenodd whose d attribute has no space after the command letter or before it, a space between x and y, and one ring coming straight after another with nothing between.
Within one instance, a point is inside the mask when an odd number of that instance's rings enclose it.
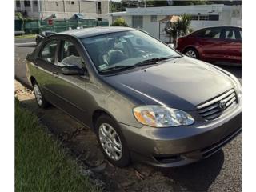
<instances>
[{"instance_id":1,"label":"rear side door of the grey sedan, including its window","mask_svg":"<svg viewBox=\"0 0 256 192\"><path fill-rule=\"evenodd\" d=\"M54 86L58 84L56 75L60 72L57 64L57 50L59 40L50 38L43 43L42 48L38 52L38 56L34 59L37 68L36 81L42 89L42 93L49 102L56 102L54 97Z\"/></svg>"}]
</instances>

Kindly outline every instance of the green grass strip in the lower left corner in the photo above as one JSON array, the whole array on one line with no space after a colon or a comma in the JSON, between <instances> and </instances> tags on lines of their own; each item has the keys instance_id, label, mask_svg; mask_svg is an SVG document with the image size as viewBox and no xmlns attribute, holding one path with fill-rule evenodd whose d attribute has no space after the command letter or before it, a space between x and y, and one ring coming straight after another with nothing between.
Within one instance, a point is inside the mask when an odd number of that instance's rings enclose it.
<instances>
[{"instance_id":1,"label":"green grass strip in the lower left corner","mask_svg":"<svg viewBox=\"0 0 256 192\"><path fill-rule=\"evenodd\" d=\"M16 100L15 191L100 191L80 169L36 115Z\"/></svg>"}]
</instances>

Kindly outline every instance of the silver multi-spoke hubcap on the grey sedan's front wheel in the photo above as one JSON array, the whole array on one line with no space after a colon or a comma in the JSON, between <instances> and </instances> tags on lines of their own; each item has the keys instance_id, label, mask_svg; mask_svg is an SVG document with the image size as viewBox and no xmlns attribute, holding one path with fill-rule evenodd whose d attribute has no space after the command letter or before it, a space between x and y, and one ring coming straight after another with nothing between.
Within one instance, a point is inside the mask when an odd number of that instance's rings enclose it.
<instances>
[{"instance_id":1,"label":"silver multi-spoke hubcap on the grey sedan's front wheel","mask_svg":"<svg viewBox=\"0 0 256 192\"><path fill-rule=\"evenodd\" d=\"M108 123L102 123L98 130L99 140L105 153L113 159L118 161L122 158L122 142L118 133Z\"/></svg>"}]
</instances>

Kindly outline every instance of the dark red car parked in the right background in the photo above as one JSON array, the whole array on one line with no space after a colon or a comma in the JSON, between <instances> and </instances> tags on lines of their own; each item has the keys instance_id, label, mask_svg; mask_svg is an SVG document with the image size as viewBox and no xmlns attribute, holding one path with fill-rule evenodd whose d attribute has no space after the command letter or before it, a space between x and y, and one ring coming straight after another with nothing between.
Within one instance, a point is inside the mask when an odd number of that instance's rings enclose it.
<instances>
[{"instance_id":1,"label":"dark red car parked in the right background","mask_svg":"<svg viewBox=\"0 0 256 192\"><path fill-rule=\"evenodd\" d=\"M241 65L242 28L214 26L178 38L176 49L191 58L206 62L232 62Z\"/></svg>"}]
</instances>

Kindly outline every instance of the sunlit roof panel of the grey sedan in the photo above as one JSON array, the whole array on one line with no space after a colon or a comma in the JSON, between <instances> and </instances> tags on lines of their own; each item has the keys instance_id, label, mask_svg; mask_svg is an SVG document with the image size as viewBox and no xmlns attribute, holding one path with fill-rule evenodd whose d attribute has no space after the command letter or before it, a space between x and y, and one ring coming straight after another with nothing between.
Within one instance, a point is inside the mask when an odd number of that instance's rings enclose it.
<instances>
[{"instance_id":1,"label":"sunlit roof panel of the grey sedan","mask_svg":"<svg viewBox=\"0 0 256 192\"><path fill-rule=\"evenodd\" d=\"M76 38L87 38L87 37L93 37L101 34L111 34L115 32L121 32L121 31L128 31L128 30L135 30L130 27L117 27L117 26L103 26L103 27L90 27L85 29L79 29L79 30L66 30L54 35L63 34L63 35L71 35Z\"/></svg>"}]
</instances>

